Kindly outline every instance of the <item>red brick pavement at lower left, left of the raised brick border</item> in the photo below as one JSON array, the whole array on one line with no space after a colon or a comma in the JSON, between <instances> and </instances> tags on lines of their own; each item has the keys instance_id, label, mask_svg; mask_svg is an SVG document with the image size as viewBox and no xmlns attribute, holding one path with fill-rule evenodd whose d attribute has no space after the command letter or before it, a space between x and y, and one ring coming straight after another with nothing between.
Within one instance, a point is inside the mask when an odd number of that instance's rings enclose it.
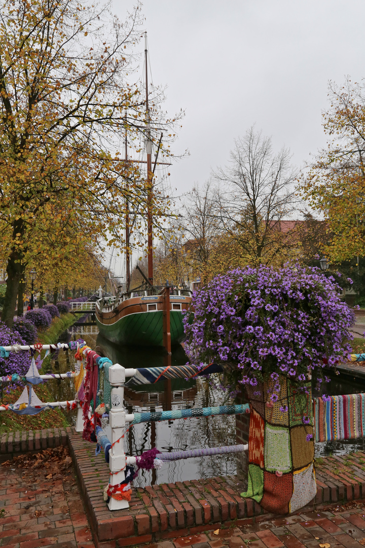
<instances>
[{"instance_id":1,"label":"red brick pavement at lower left, left of the raised brick border","mask_svg":"<svg viewBox=\"0 0 365 548\"><path fill-rule=\"evenodd\" d=\"M36 467L1 467L0 546L95 548L68 450L43 453Z\"/></svg>"}]
</instances>

